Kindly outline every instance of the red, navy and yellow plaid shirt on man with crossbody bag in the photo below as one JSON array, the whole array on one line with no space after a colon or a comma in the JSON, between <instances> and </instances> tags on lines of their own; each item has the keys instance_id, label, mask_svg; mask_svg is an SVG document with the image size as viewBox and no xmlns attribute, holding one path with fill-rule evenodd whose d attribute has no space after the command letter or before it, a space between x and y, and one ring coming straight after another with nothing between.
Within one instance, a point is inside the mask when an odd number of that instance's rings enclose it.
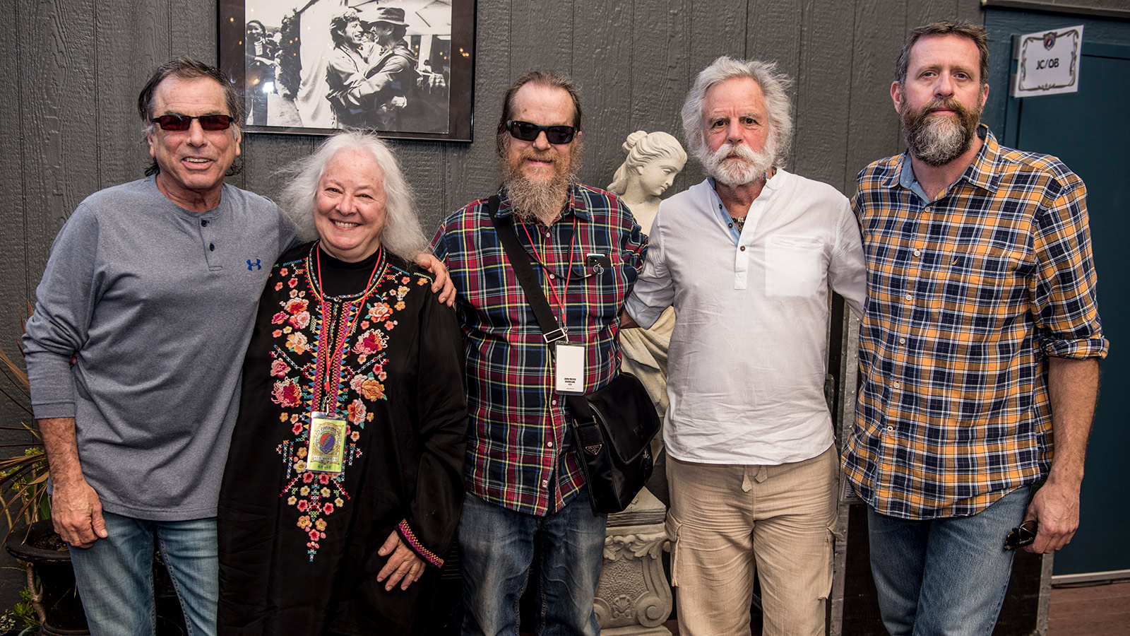
<instances>
[{"instance_id":1,"label":"red, navy and yellow plaid shirt on man with crossbody bag","mask_svg":"<svg viewBox=\"0 0 1130 636\"><path fill-rule=\"evenodd\" d=\"M499 196L499 215L511 215L505 190ZM643 268L647 237L615 195L580 183L549 227L515 216L514 230L558 323L564 313L568 342L584 345L585 390L605 386L619 371L619 315ZM520 513L558 510L584 487L584 475L564 396L554 392L549 345L495 233L487 199L444 221L432 251L455 285L467 347L467 488Z\"/></svg>"}]
</instances>

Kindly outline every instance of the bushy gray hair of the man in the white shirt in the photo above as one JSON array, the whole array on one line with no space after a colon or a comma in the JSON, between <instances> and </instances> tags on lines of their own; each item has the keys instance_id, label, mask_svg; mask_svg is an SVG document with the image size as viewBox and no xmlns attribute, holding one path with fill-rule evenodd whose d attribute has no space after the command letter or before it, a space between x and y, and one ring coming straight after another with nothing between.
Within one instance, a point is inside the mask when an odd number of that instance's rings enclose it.
<instances>
[{"instance_id":1,"label":"bushy gray hair of the man in the white shirt","mask_svg":"<svg viewBox=\"0 0 1130 636\"><path fill-rule=\"evenodd\" d=\"M687 144L696 157L705 156L707 148L703 130L703 106L706 105L706 93L716 84L742 77L756 81L765 96L770 132L776 138L776 157L773 164L779 165L789 155L789 147L792 145L792 104L789 100L792 80L777 70L776 62L736 60L722 55L704 68L687 93L687 101L683 103L683 130L686 132Z\"/></svg>"}]
</instances>

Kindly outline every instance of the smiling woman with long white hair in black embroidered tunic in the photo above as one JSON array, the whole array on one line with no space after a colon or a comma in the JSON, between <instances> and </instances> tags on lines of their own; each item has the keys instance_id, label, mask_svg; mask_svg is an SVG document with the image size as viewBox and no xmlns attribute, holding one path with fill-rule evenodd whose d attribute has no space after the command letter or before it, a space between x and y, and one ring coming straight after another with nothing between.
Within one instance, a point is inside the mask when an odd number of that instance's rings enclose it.
<instances>
[{"instance_id":1,"label":"smiling woman with long white hair in black embroidered tunic","mask_svg":"<svg viewBox=\"0 0 1130 636\"><path fill-rule=\"evenodd\" d=\"M454 311L388 146L330 137L282 207L220 488L219 634L420 634L462 507Z\"/></svg>"}]
</instances>

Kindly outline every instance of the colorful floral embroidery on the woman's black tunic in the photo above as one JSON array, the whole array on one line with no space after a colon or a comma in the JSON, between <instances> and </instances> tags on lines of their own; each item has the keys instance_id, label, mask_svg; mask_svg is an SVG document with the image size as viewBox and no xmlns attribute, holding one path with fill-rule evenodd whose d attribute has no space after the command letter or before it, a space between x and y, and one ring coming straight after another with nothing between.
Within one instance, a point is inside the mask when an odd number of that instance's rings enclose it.
<instances>
[{"instance_id":1,"label":"colorful floral embroidery on the woman's black tunic","mask_svg":"<svg viewBox=\"0 0 1130 636\"><path fill-rule=\"evenodd\" d=\"M306 552L314 560L334 513L349 505L345 475L362 456L358 441L374 416L370 405L388 398L389 333L398 324L395 312L405 308L412 276L386 265L374 280L364 307L357 307L356 300L320 300L310 291L311 273L305 259L286 264L272 277L276 291L290 287L271 318L272 324L281 326L271 332L271 401L281 407L279 423L289 431L277 447L286 465L286 483L279 497L298 514L295 527L306 535ZM416 278L415 289L426 290L428 280ZM353 333L345 345L337 347L340 332L350 325ZM340 363L329 360L334 354L340 356ZM327 368L339 368L340 372L325 385L315 386L321 381L315 378L324 380ZM347 422L342 472L307 471L310 413L333 409ZM423 547L412 549L429 553Z\"/></svg>"}]
</instances>

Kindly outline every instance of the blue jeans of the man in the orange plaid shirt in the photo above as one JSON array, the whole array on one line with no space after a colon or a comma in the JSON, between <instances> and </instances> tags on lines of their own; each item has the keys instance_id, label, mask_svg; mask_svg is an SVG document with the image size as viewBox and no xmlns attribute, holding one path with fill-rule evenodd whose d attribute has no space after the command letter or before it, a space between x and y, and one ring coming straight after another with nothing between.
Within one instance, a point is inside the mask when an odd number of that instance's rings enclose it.
<instances>
[{"instance_id":1,"label":"blue jeans of the man in the orange plaid shirt","mask_svg":"<svg viewBox=\"0 0 1130 636\"><path fill-rule=\"evenodd\" d=\"M1005 602L1029 487L968 517L907 521L868 508L871 574L892 636L989 636Z\"/></svg>"}]
</instances>

